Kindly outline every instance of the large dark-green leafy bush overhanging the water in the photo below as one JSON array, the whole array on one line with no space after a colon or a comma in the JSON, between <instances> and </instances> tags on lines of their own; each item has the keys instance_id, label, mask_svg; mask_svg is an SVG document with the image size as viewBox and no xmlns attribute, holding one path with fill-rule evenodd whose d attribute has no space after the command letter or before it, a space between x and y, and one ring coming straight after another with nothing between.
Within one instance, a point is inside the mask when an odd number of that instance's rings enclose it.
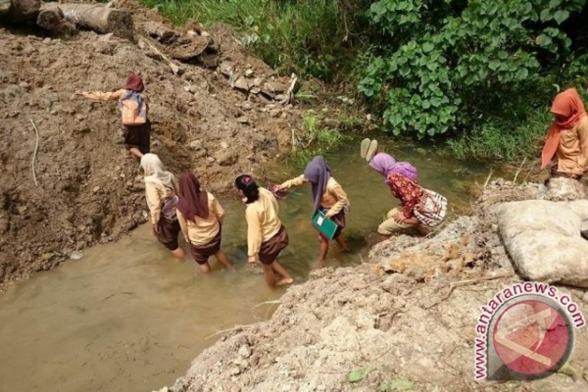
<instances>
[{"instance_id":1,"label":"large dark-green leafy bush overhanging the water","mask_svg":"<svg viewBox=\"0 0 588 392\"><path fill-rule=\"evenodd\" d=\"M379 42L358 61L359 91L386 129L418 138L524 119L513 97L546 85L569 58L560 28L585 0L380 0L366 13ZM549 99L553 88L533 99ZM506 109L506 110L505 110Z\"/></svg>"}]
</instances>

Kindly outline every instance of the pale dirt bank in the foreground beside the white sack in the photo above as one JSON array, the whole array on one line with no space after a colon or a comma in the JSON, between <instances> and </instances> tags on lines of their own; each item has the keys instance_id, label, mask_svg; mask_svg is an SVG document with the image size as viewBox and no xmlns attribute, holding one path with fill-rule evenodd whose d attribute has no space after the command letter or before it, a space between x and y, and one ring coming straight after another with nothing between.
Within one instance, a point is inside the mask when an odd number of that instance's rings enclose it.
<instances>
[{"instance_id":1,"label":"pale dirt bank in the foreground beside the white sack","mask_svg":"<svg viewBox=\"0 0 588 392\"><path fill-rule=\"evenodd\" d=\"M311 274L288 290L269 321L219 333L186 377L161 391L585 391L585 329L577 331L567 374L532 382L473 380L480 306L520 281L489 206L540 192L541 186L497 182L474 215L432 239L400 236L377 245L370 263ZM562 290L588 306L582 290ZM349 373L362 369L369 369L365 377L350 383Z\"/></svg>"}]
</instances>

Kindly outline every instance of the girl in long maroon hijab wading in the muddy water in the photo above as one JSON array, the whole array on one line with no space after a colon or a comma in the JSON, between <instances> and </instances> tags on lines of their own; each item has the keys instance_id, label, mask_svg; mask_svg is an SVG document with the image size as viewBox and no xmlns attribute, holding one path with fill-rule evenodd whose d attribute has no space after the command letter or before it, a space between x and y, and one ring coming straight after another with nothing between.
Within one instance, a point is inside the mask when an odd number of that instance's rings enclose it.
<instances>
[{"instance_id":1,"label":"girl in long maroon hijab wading in the muddy water","mask_svg":"<svg viewBox=\"0 0 588 392\"><path fill-rule=\"evenodd\" d=\"M223 267L233 269L225 252L220 249L224 217L225 210L212 193L200 189L198 178L192 173L182 173L178 221L193 259L204 273L211 271L208 259L212 255Z\"/></svg>"}]
</instances>

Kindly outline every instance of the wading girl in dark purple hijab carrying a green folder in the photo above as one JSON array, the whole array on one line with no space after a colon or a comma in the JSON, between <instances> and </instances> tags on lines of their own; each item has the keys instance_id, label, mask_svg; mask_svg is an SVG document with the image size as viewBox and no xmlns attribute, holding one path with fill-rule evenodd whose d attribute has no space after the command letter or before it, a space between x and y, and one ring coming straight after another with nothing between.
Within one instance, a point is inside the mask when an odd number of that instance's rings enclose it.
<instances>
[{"instance_id":1,"label":"wading girl in dark purple hijab carrying a green folder","mask_svg":"<svg viewBox=\"0 0 588 392\"><path fill-rule=\"evenodd\" d=\"M288 180L276 189L289 189L292 186L300 186L303 183L310 182L312 186L312 203L314 216L317 210L325 213L325 216L332 219L338 226L333 239L339 244L341 249L349 252L349 247L341 237L341 232L345 228L345 214L349 209L349 199L343 188L331 176L329 166L322 156L315 156L306 168L304 174L295 179ZM323 263L329 253L329 239L319 232L320 254L317 268L322 268Z\"/></svg>"}]
</instances>

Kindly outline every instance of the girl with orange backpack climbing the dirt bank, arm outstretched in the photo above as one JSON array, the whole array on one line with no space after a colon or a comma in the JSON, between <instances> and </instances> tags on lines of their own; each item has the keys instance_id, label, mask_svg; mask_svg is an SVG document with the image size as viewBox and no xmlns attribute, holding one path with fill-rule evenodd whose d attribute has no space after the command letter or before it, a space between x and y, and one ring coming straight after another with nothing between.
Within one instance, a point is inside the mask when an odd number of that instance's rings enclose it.
<instances>
[{"instance_id":1,"label":"girl with orange backpack climbing the dirt bank, arm outstretched","mask_svg":"<svg viewBox=\"0 0 588 392\"><path fill-rule=\"evenodd\" d=\"M95 100L118 100L124 143L129 152L137 158L149 152L151 122L148 118L148 99L143 94L141 76L131 73L126 79L125 88L114 92L81 92L83 96Z\"/></svg>"}]
</instances>

